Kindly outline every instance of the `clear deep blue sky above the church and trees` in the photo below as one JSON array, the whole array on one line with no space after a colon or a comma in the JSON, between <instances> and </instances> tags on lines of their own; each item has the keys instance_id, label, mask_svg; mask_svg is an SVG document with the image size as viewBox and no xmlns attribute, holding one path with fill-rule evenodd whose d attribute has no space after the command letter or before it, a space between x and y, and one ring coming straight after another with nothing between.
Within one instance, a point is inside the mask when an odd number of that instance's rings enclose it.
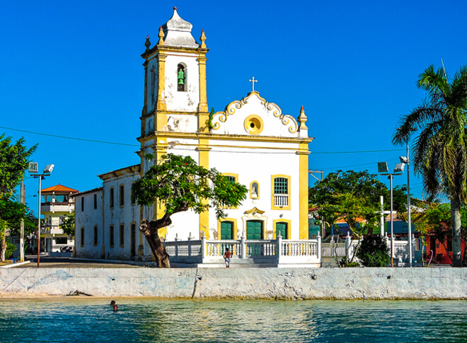
<instances>
[{"instance_id":1,"label":"clear deep blue sky above the church and trees","mask_svg":"<svg viewBox=\"0 0 467 343\"><path fill-rule=\"evenodd\" d=\"M296 117L304 106L315 137L309 168L325 174L393 168L405 155L391 144L399 117L425 97L417 76L441 59L451 75L466 64L465 1L5 1L0 133L38 143L40 168L55 164L43 187L90 190L96 175L139 163L140 54L173 6L198 41L206 33L209 108L246 96L255 76L282 112ZM36 194L37 180L25 182L26 196ZM410 183L421 197L421 180Z\"/></svg>"}]
</instances>

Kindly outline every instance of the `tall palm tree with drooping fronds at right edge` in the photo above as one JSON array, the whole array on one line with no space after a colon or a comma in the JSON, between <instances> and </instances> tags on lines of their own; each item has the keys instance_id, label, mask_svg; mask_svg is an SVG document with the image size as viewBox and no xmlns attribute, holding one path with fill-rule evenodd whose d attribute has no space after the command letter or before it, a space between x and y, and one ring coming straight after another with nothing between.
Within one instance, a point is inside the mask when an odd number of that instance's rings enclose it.
<instances>
[{"instance_id":1,"label":"tall palm tree with drooping fronds at right edge","mask_svg":"<svg viewBox=\"0 0 467 343\"><path fill-rule=\"evenodd\" d=\"M444 69L429 66L420 74L417 87L427 98L403 116L393 134L393 144L413 141L415 173L422 175L424 192L446 194L451 201L453 267L462 267L461 204L467 192L467 66L451 82Z\"/></svg>"}]
</instances>

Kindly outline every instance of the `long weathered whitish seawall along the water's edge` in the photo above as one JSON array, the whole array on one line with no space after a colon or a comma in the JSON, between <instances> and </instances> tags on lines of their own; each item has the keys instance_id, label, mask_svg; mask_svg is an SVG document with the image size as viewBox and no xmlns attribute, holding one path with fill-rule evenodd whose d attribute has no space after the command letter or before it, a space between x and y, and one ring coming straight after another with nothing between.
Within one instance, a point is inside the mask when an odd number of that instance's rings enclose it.
<instances>
[{"instance_id":1,"label":"long weathered whitish seawall along the water's edge","mask_svg":"<svg viewBox=\"0 0 467 343\"><path fill-rule=\"evenodd\" d=\"M466 281L467 268L11 268L0 269L0 298L466 299Z\"/></svg>"}]
</instances>

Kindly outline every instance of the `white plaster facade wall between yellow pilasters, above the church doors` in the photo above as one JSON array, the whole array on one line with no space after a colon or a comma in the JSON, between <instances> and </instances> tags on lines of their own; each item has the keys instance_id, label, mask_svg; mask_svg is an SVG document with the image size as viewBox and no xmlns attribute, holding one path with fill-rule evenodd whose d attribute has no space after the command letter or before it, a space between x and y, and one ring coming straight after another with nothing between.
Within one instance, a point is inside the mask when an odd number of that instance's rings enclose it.
<instances>
[{"instance_id":1,"label":"white plaster facade wall between yellow pilasters, above the church doors","mask_svg":"<svg viewBox=\"0 0 467 343\"><path fill-rule=\"evenodd\" d=\"M224 141L225 145L247 145L245 142ZM291 239L299 239L299 156L296 155L298 144L265 144L251 143L252 146L274 146L275 148L288 148L280 151L274 149L248 149L248 148L213 148L209 153L209 168L217 168L220 173L238 175L237 182L250 189L251 182L259 184L259 199L252 199L250 192L246 200L238 209L227 209L229 218L237 220L237 236L241 238L246 231L246 220L259 219L265 222L266 238L272 239L273 221L289 220L291 224ZM290 209L272 209L272 175L287 175L290 177L289 202ZM254 207L265 211L255 217L246 216L245 211ZM218 223L214 211L209 214L209 238L211 233L217 232ZM245 232L246 234L246 232Z\"/></svg>"}]
</instances>

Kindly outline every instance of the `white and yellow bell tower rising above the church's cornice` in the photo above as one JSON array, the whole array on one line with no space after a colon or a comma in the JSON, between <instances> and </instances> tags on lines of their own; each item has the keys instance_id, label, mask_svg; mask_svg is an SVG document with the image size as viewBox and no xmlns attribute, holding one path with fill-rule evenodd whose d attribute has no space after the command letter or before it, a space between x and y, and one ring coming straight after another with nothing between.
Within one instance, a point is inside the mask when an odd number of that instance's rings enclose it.
<instances>
[{"instance_id":1,"label":"white and yellow bell tower rising above the church's cornice","mask_svg":"<svg viewBox=\"0 0 467 343\"><path fill-rule=\"evenodd\" d=\"M207 132L209 119L206 91L206 36L198 43L192 24L173 8L169 21L159 28L158 42L151 47L146 37L144 58L144 106L139 141L158 133Z\"/></svg>"}]
</instances>

